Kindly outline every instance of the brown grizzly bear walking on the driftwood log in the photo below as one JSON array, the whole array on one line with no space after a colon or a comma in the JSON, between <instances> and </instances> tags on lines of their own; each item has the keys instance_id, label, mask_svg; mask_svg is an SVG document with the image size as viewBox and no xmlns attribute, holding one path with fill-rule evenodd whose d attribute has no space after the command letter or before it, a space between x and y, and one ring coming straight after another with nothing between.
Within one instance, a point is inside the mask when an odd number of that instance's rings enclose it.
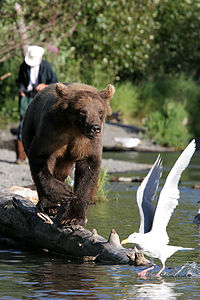
<instances>
[{"instance_id":1,"label":"brown grizzly bear walking on the driftwood log","mask_svg":"<svg viewBox=\"0 0 200 300\"><path fill-rule=\"evenodd\" d=\"M86 224L102 157L102 135L115 89L52 84L38 92L23 121L22 141L35 182L38 208L61 205L60 224ZM74 190L64 183L75 166ZM63 208L64 207L64 208Z\"/></svg>"}]
</instances>

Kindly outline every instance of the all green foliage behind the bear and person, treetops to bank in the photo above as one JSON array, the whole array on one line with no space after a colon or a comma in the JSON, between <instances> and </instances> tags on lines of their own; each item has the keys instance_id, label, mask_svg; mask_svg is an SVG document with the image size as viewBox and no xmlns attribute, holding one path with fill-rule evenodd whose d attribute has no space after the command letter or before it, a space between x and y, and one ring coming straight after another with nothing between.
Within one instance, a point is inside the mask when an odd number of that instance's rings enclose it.
<instances>
[{"instance_id":1,"label":"all green foliage behind the bear and person, treetops to bank","mask_svg":"<svg viewBox=\"0 0 200 300\"><path fill-rule=\"evenodd\" d=\"M26 42L45 48L44 58L62 82L97 88L114 83L113 111L121 110L125 122L143 121L151 136L156 122L160 130L168 128L157 142L175 144L169 128L179 128L181 135L185 126L185 139L198 136L200 92L192 77L200 78L200 0L19 0L21 14L15 3L1 3L0 76L12 76L0 80L0 118L9 120L12 107L15 116L12 99Z\"/></svg>"}]
</instances>

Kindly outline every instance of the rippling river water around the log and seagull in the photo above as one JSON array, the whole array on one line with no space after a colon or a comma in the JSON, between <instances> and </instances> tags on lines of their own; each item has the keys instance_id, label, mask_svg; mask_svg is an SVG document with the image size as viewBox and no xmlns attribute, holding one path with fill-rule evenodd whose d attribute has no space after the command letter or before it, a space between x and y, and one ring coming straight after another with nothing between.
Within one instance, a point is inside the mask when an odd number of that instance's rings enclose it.
<instances>
[{"instance_id":1,"label":"rippling river water around the log and seagull","mask_svg":"<svg viewBox=\"0 0 200 300\"><path fill-rule=\"evenodd\" d=\"M163 153L162 187L178 153ZM126 161L152 164L156 153L106 153ZM146 172L128 174L145 176ZM126 174L127 176L127 174ZM195 153L180 183L181 198L170 223L170 244L193 247L177 252L166 262L162 278L155 270L138 278L142 267L129 265L78 264L67 258L22 249L0 249L0 299L200 299L200 229L193 224L200 200L200 153ZM112 228L120 240L138 231L136 190L139 183L111 183L109 201L90 206L87 228L108 237Z\"/></svg>"}]
</instances>

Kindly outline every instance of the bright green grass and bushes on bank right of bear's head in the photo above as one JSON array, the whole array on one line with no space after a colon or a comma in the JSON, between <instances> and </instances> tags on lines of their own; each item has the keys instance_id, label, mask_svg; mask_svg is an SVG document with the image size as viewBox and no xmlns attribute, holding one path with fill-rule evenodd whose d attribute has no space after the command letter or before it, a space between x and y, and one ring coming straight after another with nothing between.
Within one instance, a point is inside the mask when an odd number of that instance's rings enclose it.
<instances>
[{"instance_id":1,"label":"bright green grass and bushes on bank right of bear's head","mask_svg":"<svg viewBox=\"0 0 200 300\"><path fill-rule=\"evenodd\" d=\"M123 121L142 126L157 144L183 149L200 132L200 85L180 76L161 76L133 85L116 87L113 112L123 112Z\"/></svg>"}]
</instances>

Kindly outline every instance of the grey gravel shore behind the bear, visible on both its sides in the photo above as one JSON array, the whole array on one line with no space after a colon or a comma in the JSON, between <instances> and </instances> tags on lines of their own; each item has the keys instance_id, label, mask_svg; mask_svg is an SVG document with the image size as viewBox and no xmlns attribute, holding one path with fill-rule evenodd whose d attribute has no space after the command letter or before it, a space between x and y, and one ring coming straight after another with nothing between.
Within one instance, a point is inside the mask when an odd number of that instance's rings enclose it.
<instances>
[{"instance_id":1,"label":"grey gravel shore behind the bear, visible on both its sides","mask_svg":"<svg viewBox=\"0 0 200 300\"><path fill-rule=\"evenodd\" d=\"M26 186L33 183L28 162L24 165L15 164L14 140L16 137L11 134L11 128L0 131L0 192L5 191L13 185ZM138 137L140 133L137 129L129 126L117 126L116 124L106 124L104 133L104 147L112 148L114 137ZM141 138L141 137L140 137ZM142 140L139 151L149 149L149 151L162 151L163 149L153 145L147 140ZM143 149L142 149L143 147ZM147 170L151 166L147 164L137 164L113 159L103 159L102 167L108 169L109 173L137 172Z\"/></svg>"}]
</instances>

